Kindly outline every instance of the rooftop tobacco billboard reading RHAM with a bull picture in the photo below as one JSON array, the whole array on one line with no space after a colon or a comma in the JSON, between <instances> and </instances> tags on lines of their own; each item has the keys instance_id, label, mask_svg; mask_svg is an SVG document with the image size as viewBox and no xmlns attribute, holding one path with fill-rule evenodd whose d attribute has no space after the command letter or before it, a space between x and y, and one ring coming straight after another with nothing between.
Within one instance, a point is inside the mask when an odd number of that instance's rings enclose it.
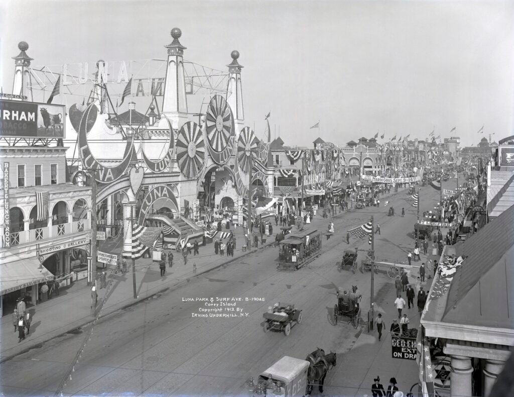
<instances>
[{"instance_id":1,"label":"rooftop tobacco billboard reading RHAM with a bull picture","mask_svg":"<svg viewBox=\"0 0 514 397\"><path fill-rule=\"evenodd\" d=\"M0 99L0 136L64 138L64 105Z\"/></svg>"}]
</instances>

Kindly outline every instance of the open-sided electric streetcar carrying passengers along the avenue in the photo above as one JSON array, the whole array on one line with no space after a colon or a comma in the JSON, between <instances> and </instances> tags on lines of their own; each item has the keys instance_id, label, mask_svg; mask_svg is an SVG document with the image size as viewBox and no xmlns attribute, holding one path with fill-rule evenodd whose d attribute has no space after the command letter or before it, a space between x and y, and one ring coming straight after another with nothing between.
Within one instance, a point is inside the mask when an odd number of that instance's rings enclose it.
<instances>
[{"instance_id":1,"label":"open-sided electric streetcar carrying passengers along the avenue","mask_svg":"<svg viewBox=\"0 0 514 397\"><path fill-rule=\"evenodd\" d=\"M279 243L278 270L297 270L321 255L321 232L308 229L289 234Z\"/></svg>"}]
</instances>

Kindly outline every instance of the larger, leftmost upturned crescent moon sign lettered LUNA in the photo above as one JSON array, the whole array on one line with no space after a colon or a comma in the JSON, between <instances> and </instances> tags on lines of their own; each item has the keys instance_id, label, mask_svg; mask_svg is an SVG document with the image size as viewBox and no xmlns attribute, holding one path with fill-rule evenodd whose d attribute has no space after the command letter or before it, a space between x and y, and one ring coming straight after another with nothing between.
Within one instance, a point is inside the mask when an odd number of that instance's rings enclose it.
<instances>
[{"instance_id":1,"label":"larger, leftmost upturned crescent moon sign lettered LUNA","mask_svg":"<svg viewBox=\"0 0 514 397\"><path fill-rule=\"evenodd\" d=\"M80 158L82 159L82 163L85 168L95 170L95 180L101 183L111 183L117 180L123 172L125 172L128 164L130 164L131 160L136 160L136 150L134 148L134 139L127 141L125 147L125 153L123 154L123 160L116 167L105 167L100 164L93 153L91 153L91 149L89 148L89 144L87 143L87 120L95 119L95 123L97 122L97 114L98 109L94 103L91 103L85 110L80 120L79 125L79 153Z\"/></svg>"}]
</instances>

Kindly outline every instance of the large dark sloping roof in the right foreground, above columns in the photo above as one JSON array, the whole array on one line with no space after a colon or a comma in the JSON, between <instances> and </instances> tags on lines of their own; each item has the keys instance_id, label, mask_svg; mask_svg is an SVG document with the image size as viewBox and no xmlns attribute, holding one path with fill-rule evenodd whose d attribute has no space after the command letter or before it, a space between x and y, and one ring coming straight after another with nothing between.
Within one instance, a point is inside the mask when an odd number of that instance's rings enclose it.
<instances>
[{"instance_id":1,"label":"large dark sloping roof in the right foreground, above columns","mask_svg":"<svg viewBox=\"0 0 514 397\"><path fill-rule=\"evenodd\" d=\"M514 206L455 246L466 255L451 282L443 322L514 329Z\"/></svg>"}]
</instances>

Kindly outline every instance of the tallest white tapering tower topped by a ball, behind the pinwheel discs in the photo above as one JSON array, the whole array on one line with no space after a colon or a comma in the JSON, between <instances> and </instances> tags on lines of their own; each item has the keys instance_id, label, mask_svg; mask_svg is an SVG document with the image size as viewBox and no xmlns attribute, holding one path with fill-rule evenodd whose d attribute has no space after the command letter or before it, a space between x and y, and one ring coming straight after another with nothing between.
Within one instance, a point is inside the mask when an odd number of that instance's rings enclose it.
<instances>
[{"instance_id":1,"label":"tallest white tapering tower topped by a ball, behind the pinwheel discs","mask_svg":"<svg viewBox=\"0 0 514 397\"><path fill-rule=\"evenodd\" d=\"M180 36L182 36L181 30L173 28L171 30L173 42L165 46L168 48L168 63L162 113L171 120L174 129L180 128L182 124L189 121L183 65L183 54L186 47L178 41Z\"/></svg>"}]
</instances>

